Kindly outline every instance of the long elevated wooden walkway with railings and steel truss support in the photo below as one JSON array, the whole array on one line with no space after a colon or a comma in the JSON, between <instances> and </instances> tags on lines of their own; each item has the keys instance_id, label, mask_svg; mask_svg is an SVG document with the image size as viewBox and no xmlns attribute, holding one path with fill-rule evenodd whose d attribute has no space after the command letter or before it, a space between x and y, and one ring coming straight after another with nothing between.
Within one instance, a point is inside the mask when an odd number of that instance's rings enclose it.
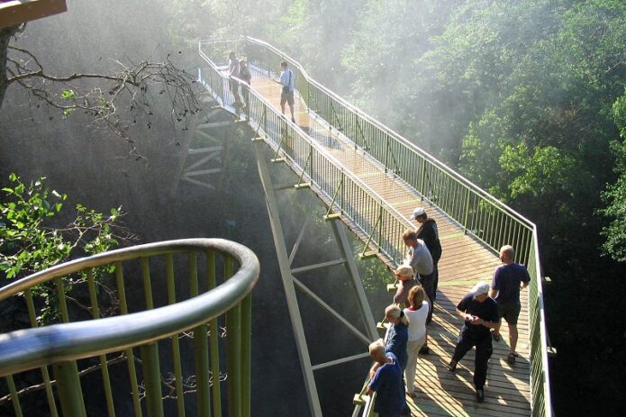
<instances>
[{"instance_id":1,"label":"long elevated wooden walkway with railings and steel truss support","mask_svg":"<svg viewBox=\"0 0 626 417\"><path fill-rule=\"evenodd\" d=\"M225 70L230 50L245 57L252 73L250 86L234 80L239 85L234 89L240 89L248 104L243 111L235 103L229 86L232 80ZM280 187L271 184L260 146L269 147L272 162L286 163L295 172L296 188L310 188L322 199L327 206L327 220L345 224L365 243L363 257L377 256L387 266L395 267L404 258L402 233L414 227L408 220L413 208L425 207L437 221L443 247L439 293L429 327L431 354L421 356L417 364L417 400L413 402L407 397L413 415L552 415L535 225L315 82L298 62L268 43L252 38L200 41L199 54L204 59L199 80L219 106L235 114L238 121L249 123L255 131L259 173L268 195L279 262L283 259L281 273L312 414L322 415L313 371L331 364L311 363L294 288L313 297L338 320L342 319L295 279L295 269L290 269L293 252L288 257L281 240L274 197ZM295 73L295 122L279 110L280 86L274 79L282 60ZM518 323L517 351L521 358L514 366L506 363L508 334L504 325L502 340L494 342L485 403L478 404L472 385L473 354L467 354L455 374L445 368L462 324L455 305L478 280L490 279L494 268L500 265L497 251L505 244L513 245L516 261L525 264L531 274L530 289L522 294ZM357 292L360 306L366 310L362 314L367 334L343 322L363 340L363 351L367 352L367 341L377 335L372 331L373 319L371 312L367 312L367 301L363 301L362 286ZM367 353L361 352L334 362L364 356ZM363 372L365 376L367 369ZM366 400L364 405L356 402L353 415L370 415L372 402Z\"/></svg>"}]
</instances>

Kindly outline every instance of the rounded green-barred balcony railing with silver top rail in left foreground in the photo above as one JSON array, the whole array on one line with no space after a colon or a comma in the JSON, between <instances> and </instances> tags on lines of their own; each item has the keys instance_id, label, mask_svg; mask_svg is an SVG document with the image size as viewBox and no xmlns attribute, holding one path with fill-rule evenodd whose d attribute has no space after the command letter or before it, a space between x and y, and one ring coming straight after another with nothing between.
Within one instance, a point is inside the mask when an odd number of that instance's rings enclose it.
<instances>
[{"instance_id":1,"label":"rounded green-barred balcony railing with silver top rail in left foreground","mask_svg":"<svg viewBox=\"0 0 626 417\"><path fill-rule=\"evenodd\" d=\"M220 416L224 408L249 416L250 292L258 277L259 260L244 246L189 239L80 258L5 286L0 301L22 297L32 328L0 335L8 391L0 403L12 403L16 416L32 403L47 403L37 414L52 416L59 408L95 415L93 407L128 415L121 410L129 403L135 416L184 416L194 404L191 415ZM45 326L37 317L43 287L58 312ZM112 307L116 313L103 318ZM95 372L96 385L94 375L81 384ZM85 403L87 386L97 387L101 403Z\"/></svg>"}]
</instances>

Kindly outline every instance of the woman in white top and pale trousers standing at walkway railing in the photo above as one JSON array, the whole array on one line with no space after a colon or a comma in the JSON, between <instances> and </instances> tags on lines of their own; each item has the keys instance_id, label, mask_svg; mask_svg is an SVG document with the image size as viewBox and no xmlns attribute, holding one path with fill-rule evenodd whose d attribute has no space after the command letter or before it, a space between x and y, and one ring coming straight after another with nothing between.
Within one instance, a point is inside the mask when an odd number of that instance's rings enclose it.
<instances>
[{"instance_id":1,"label":"woman in white top and pale trousers standing at walkway railing","mask_svg":"<svg viewBox=\"0 0 626 417\"><path fill-rule=\"evenodd\" d=\"M426 341L428 302L424 300L424 289L422 286L413 286L407 298L410 306L404 309L404 314L409 319L409 340L406 344L409 358L404 369L404 378L406 378L406 392L413 397L415 394L417 354L420 348L422 348L424 341Z\"/></svg>"}]
</instances>

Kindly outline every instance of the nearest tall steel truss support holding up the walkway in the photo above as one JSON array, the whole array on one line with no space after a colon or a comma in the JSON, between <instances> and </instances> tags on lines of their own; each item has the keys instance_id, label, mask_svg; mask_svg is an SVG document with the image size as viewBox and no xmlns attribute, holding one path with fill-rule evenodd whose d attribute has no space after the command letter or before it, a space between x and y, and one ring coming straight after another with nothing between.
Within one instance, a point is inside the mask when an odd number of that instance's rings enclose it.
<instances>
[{"instance_id":1,"label":"nearest tall steel truss support holding up the walkway","mask_svg":"<svg viewBox=\"0 0 626 417\"><path fill-rule=\"evenodd\" d=\"M289 310L289 317L291 319L291 324L294 329L295 343L298 349L298 356L300 358L300 366L304 375L304 385L308 396L309 408L314 417L322 417L322 408L315 385L315 377L313 376L313 371L324 367L340 365L342 363L349 362L350 360L367 357L367 344L370 341L378 339L376 322L374 321L374 316L372 315L369 304L367 303L367 297L363 288L363 283L360 279L360 276L358 275L357 264L349 247L348 237L346 236L346 229L340 219L335 218L329 220L329 222L331 222L335 240L338 243L340 258L337 260L332 260L317 265L311 265L308 267L292 267L291 264L295 257L295 252L304 238L304 231L307 227L308 219L307 222L304 222L304 226L300 231L297 240L295 241L295 245L294 248L291 250L291 253L287 252L285 236L283 234L283 228L280 222L280 215L276 198L276 191L280 189L287 189L287 187L275 187L272 184L272 179L269 175L268 163L266 162L266 157L264 157L263 155L263 151L267 149L267 145L261 139L256 139L253 141L255 143L255 150L257 153L259 177L266 195L269 222L274 237L274 244L276 246L278 266L280 268L280 275L283 281L283 286L285 288L287 308ZM293 189L294 186L289 186L288 188ZM340 313L332 309L329 304L326 304L322 300L322 297L316 295L310 288L304 286L304 284L294 276L295 274L300 272L336 265L343 265L346 268L347 275L349 276L350 283L357 298L358 310L365 328L365 334L363 334L363 332L359 331L352 323L342 317ZM362 340L364 345L366 346L366 349L361 350L358 354L346 358L340 358L332 360L330 362L313 365L311 362L311 357L309 356L309 349L304 335L303 320L300 314L300 309L298 307L298 301L295 292L296 287L301 290L304 295L310 297L315 304L322 308L322 310L330 313L331 316L333 316L338 322L343 324L343 326L345 326L345 328L352 334L354 334L359 340Z\"/></svg>"}]
</instances>

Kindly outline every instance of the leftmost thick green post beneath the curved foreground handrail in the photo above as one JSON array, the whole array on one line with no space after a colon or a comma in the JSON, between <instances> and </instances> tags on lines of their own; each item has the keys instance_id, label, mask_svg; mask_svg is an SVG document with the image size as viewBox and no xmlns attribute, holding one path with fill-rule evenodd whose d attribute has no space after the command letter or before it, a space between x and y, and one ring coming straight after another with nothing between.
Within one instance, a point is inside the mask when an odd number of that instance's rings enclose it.
<instances>
[{"instance_id":1,"label":"leftmost thick green post beneath the curved foreground handrail","mask_svg":"<svg viewBox=\"0 0 626 417\"><path fill-rule=\"evenodd\" d=\"M83 390L80 386L76 361L59 362L52 367L54 378L57 380L57 392L59 393L63 415L86 417Z\"/></svg>"}]
</instances>

